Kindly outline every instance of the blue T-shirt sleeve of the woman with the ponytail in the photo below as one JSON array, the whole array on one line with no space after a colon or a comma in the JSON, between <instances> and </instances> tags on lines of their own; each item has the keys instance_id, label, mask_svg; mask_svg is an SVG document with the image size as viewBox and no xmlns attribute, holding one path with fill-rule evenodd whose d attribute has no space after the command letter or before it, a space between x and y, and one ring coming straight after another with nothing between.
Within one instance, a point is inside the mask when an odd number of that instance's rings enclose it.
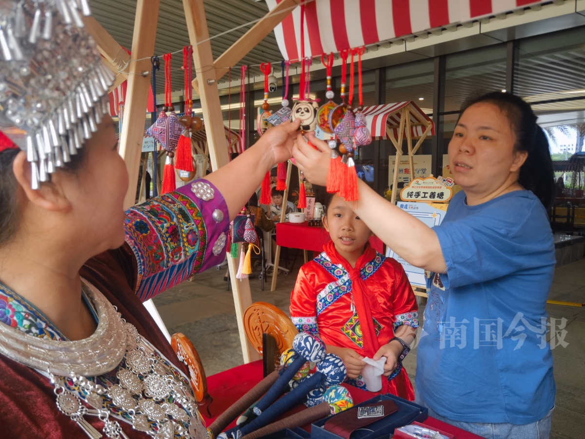
<instances>
[{"instance_id":1,"label":"blue T-shirt sleeve of the woman with the ponytail","mask_svg":"<svg viewBox=\"0 0 585 439\"><path fill-rule=\"evenodd\" d=\"M486 282L542 263L550 226L545 209L531 194L506 194L488 205L459 200L454 215L433 228L447 265L446 288ZM449 221L449 216L457 217ZM547 260L548 262L548 260Z\"/></svg>"}]
</instances>

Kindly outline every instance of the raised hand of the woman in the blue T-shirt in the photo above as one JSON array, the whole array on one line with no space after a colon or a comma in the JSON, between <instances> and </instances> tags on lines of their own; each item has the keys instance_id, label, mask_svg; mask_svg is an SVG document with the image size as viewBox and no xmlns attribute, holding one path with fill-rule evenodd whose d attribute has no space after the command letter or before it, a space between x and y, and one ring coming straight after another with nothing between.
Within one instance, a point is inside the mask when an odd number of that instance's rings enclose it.
<instances>
[{"instance_id":1,"label":"raised hand of the woman in the blue T-shirt","mask_svg":"<svg viewBox=\"0 0 585 439\"><path fill-rule=\"evenodd\" d=\"M314 132L305 133L305 137L317 149L305 142L305 139L299 134L294 142L292 156L307 180L319 186L326 186L331 149L323 140L316 138Z\"/></svg>"}]
</instances>

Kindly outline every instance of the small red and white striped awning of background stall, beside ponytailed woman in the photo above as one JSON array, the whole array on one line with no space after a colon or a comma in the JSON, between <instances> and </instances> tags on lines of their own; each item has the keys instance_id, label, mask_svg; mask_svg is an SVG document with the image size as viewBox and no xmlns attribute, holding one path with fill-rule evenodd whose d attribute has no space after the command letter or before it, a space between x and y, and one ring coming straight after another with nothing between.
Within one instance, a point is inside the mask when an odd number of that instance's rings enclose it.
<instances>
[{"instance_id":1,"label":"small red and white striped awning of background stall, beside ponytailed woman","mask_svg":"<svg viewBox=\"0 0 585 439\"><path fill-rule=\"evenodd\" d=\"M412 101L406 101L364 107L362 114L366 116L367 126L370 129L372 138L388 139L386 130L389 129L393 132L394 138L398 139L401 109L405 107L408 107L412 139L420 138L429 124L432 126L430 135L435 135L435 124L433 124L431 118L418 108L417 104Z\"/></svg>"}]
</instances>

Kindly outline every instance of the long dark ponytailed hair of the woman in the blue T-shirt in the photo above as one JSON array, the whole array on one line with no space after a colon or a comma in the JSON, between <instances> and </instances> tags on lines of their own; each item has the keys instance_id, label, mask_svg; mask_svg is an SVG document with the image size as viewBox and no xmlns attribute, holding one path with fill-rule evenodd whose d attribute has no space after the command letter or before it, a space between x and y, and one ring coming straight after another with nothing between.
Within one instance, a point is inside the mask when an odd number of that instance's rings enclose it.
<instances>
[{"instance_id":1,"label":"long dark ponytailed hair of the woman in the blue T-shirt","mask_svg":"<svg viewBox=\"0 0 585 439\"><path fill-rule=\"evenodd\" d=\"M487 102L500 108L508 116L516 135L514 149L528 152L520 168L518 183L531 190L548 210L555 198L555 173L550 158L549 143L541 127L536 125L536 115L529 104L511 93L493 91L464 102L459 117L474 104Z\"/></svg>"}]
</instances>

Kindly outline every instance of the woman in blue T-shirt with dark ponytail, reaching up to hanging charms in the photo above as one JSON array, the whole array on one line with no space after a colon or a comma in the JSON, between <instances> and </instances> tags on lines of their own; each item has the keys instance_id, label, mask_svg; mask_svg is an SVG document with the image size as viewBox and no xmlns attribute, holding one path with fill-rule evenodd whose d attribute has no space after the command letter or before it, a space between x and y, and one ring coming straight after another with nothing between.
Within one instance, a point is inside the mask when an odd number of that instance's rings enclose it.
<instances>
[{"instance_id":1,"label":"woman in blue T-shirt with dark ponytail, reaching up to hanging charms","mask_svg":"<svg viewBox=\"0 0 585 439\"><path fill-rule=\"evenodd\" d=\"M294 156L309 181L325 184L328 154L299 138ZM547 438L555 402L546 342L555 266L548 140L526 102L493 92L463 106L449 165L463 191L441 226L426 227L362 181L354 209L428 273L417 400L431 416L483 437Z\"/></svg>"}]
</instances>

